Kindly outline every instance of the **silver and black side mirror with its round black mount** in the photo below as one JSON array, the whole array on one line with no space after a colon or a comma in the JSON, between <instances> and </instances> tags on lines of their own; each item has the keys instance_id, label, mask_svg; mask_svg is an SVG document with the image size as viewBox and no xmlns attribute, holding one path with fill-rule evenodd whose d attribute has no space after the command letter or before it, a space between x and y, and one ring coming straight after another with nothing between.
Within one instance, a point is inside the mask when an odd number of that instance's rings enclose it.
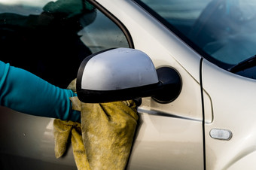
<instances>
[{"instance_id":1,"label":"silver and black side mirror with its round black mount","mask_svg":"<svg viewBox=\"0 0 256 170\"><path fill-rule=\"evenodd\" d=\"M168 103L181 92L181 77L173 68L154 68L142 51L116 48L94 53L81 63L77 93L81 102L100 103L151 96Z\"/></svg>"}]
</instances>

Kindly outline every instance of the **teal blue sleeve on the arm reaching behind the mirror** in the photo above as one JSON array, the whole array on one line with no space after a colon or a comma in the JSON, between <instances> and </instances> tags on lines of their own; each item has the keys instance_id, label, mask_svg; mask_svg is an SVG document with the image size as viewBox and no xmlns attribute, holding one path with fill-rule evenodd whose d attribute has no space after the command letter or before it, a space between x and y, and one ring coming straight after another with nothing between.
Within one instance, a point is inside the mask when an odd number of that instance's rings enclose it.
<instances>
[{"instance_id":1,"label":"teal blue sleeve on the arm reaching behind the mirror","mask_svg":"<svg viewBox=\"0 0 256 170\"><path fill-rule=\"evenodd\" d=\"M35 74L0 61L0 105L41 117L81 121L72 110L72 90L55 87Z\"/></svg>"}]
</instances>

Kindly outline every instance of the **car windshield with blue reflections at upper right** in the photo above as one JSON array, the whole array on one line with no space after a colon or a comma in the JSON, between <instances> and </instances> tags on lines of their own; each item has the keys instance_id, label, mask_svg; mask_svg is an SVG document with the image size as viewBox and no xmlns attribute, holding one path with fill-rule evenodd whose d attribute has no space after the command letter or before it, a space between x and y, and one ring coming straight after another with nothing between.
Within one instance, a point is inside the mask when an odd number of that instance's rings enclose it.
<instances>
[{"instance_id":1,"label":"car windshield with blue reflections at upper right","mask_svg":"<svg viewBox=\"0 0 256 170\"><path fill-rule=\"evenodd\" d=\"M228 69L256 54L254 0L135 0L206 59ZM256 78L251 71L246 77Z\"/></svg>"}]
</instances>

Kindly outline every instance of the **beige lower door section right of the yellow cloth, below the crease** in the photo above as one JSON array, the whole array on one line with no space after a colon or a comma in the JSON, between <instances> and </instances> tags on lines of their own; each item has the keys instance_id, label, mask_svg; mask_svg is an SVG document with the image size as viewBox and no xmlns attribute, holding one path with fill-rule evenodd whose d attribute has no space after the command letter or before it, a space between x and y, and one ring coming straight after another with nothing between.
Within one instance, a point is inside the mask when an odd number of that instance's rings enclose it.
<instances>
[{"instance_id":1,"label":"beige lower door section right of the yellow cloth, below the crease","mask_svg":"<svg viewBox=\"0 0 256 170\"><path fill-rule=\"evenodd\" d=\"M139 112L127 169L203 169L201 121Z\"/></svg>"}]
</instances>

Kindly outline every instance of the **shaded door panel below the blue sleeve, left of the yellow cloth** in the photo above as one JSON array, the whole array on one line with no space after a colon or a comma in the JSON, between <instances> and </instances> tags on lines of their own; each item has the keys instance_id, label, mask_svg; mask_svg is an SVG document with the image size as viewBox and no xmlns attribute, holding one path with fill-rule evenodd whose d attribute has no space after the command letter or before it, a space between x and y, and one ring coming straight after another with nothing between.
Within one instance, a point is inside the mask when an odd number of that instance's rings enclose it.
<instances>
[{"instance_id":1,"label":"shaded door panel below the blue sleeve, left of the yellow cloth","mask_svg":"<svg viewBox=\"0 0 256 170\"><path fill-rule=\"evenodd\" d=\"M77 169L70 146L56 159L53 119L0 107L2 169Z\"/></svg>"}]
</instances>

